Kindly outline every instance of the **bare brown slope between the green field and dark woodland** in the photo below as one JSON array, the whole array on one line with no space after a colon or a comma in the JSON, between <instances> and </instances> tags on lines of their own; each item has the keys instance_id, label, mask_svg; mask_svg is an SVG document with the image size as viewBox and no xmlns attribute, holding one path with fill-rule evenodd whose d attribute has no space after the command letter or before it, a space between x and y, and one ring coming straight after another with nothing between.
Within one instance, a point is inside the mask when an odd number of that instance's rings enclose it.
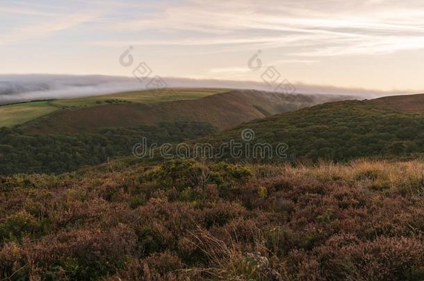
<instances>
[{"instance_id":1,"label":"bare brown slope between the green field and dark woodland","mask_svg":"<svg viewBox=\"0 0 424 281\"><path fill-rule=\"evenodd\" d=\"M160 103L116 103L59 110L24 124L29 133L95 133L102 128L156 125L161 122L199 121L222 130L245 121L349 96L277 94L231 90L202 99Z\"/></svg>"}]
</instances>

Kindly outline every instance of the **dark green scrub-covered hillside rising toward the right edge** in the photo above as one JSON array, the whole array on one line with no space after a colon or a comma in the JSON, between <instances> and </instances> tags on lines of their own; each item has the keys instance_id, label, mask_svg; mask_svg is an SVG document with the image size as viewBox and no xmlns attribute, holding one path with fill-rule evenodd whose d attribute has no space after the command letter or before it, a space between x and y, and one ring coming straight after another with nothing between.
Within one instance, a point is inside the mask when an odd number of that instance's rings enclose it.
<instances>
[{"instance_id":1,"label":"dark green scrub-covered hillside rising toward the right edge","mask_svg":"<svg viewBox=\"0 0 424 281\"><path fill-rule=\"evenodd\" d=\"M404 96L405 103L399 101L400 97L388 97L316 105L248 122L199 142L211 142L215 147L230 139L245 143L240 133L250 129L255 134L252 145L287 144L286 154L291 160L416 157L424 153L424 114L400 108L414 101L419 105L422 97ZM397 104L397 110L388 108L388 104ZM230 160L229 151L225 157ZM254 160L252 153L247 158Z\"/></svg>"}]
</instances>

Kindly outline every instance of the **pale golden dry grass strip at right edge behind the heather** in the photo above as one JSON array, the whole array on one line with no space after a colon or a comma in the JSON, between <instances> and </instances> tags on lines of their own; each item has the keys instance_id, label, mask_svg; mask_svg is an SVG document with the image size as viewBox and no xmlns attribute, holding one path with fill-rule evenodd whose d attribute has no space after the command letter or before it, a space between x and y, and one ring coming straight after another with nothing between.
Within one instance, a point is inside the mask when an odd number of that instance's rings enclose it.
<instances>
[{"instance_id":1,"label":"pale golden dry grass strip at right edge behind the heather","mask_svg":"<svg viewBox=\"0 0 424 281\"><path fill-rule=\"evenodd\" d=\"M341 180L351 185L369 189L400 192L401 194L424 193L424 162L353 160L347 164L319 162L298 165L252 165L256 177L284 175L288 178L312 178L320 182Z\"/></svg>"}]
</instances>

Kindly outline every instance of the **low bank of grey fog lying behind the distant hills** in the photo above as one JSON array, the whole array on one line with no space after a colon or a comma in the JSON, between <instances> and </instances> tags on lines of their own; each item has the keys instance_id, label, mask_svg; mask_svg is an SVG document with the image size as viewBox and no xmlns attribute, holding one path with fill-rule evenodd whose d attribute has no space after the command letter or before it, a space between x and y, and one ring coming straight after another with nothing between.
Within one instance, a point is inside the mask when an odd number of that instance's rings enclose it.
<instances>
[{"instance_id":1,"label":"low bank of grey fog lying behind the distant hills","mask_svg":"<svg viewBox=\"0 0 424 281\"><path fill-rule=\"evenodd\" d=\"M197 80L188 78L163 78L168 87L218 87L253 89L272 92L274 87L265 83L231 80ZM113 94L133 90L146 90L149 79L119 76L71 76L49 74L0 75L0 104L42 99L69 99L81 96ZM319 85L294 85L297 94L345 94L364 99L412 92L380 92Z\"/></svg>"}]
</instances>

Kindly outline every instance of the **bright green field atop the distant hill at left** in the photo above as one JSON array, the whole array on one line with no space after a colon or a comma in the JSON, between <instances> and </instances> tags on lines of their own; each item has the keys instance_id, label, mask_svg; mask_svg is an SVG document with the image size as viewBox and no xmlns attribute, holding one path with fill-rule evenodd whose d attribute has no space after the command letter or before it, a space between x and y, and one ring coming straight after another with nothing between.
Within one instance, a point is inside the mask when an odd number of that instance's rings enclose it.
<instances>
[{"instance_id":1,"label":"bright green field atop the distant hill at left","mask_svg":"<svg viewBox=\"0 0 424 281\"><path fill-rule=\"evenodd\" d=\"M0 106L0 128L14 127L56 110L88 108L124 103L161 103L165 101L202 99L204 96L226 92L223 89L170 89L161 92L138 91L89 96L79 99L32 101Z\"/></svg>"}]
</instances>

